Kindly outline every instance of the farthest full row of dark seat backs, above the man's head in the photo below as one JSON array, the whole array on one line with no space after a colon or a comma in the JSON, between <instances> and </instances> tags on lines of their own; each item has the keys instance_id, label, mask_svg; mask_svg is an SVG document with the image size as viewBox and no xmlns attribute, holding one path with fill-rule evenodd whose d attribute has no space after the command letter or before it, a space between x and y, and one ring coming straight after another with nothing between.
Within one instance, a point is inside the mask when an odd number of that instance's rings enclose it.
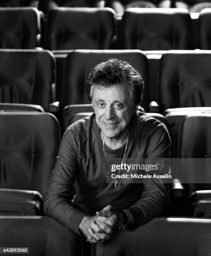
<instances>
[{"instance_id":1,"label":"farthest full row of dark seat backs, above the man's head","mask_svg":"<svg viewBox=\"0 0 211 256\"><path fill-rule=\"evenodd\" d=\"M195 29L187 10L163 8L126 10L118 31L111 8L58 8L41 24L35 8L0 8L0 48L211 49L211 9L201 11Z\"/></svg>"}]
</instances>

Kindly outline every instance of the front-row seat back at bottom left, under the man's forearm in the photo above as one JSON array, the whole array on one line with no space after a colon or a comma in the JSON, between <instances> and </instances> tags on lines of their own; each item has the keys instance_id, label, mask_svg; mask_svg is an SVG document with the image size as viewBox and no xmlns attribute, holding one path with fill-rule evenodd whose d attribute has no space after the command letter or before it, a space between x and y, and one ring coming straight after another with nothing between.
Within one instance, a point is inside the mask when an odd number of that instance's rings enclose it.
<instances>
[{"instance_id":1,"label":"front-row seat back at bottom left, under the man's forearm","mask_svg":"<svg viewBox=\"0 0 211 256\"><path fill-rule=\"evenodd\" d=\"M28 247L30 256L82 256L81 238L44 216L0 216L0 237L0 247Z\"/></svg>"}]
</instances>

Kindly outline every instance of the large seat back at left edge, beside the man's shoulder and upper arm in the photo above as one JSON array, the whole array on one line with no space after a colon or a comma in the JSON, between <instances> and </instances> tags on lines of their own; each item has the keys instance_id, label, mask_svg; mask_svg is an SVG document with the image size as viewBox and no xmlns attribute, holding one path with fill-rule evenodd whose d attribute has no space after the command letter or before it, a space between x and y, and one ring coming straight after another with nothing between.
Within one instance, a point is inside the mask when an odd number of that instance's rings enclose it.
<instances>
[{"instance_id":1,"label":"large seat back at left edge, beside the man's shoulder and upper arm","mask_svg":"<svg viewBox=\"0 0 211 256\"><path fill-rule=\"evenodd\" d=\"M0 113L0 188L43 192L60 144L50 113Z\"/></svg>"}]
</instances>

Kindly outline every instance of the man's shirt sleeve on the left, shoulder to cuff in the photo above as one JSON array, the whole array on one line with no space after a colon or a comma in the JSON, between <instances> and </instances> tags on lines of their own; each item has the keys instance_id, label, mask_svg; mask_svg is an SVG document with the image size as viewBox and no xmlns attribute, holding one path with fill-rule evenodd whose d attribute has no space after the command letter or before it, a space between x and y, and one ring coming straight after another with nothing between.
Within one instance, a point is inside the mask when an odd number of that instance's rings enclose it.
<instances>
[{"instance_id":1,"label":"man's shirt sleeve on the left, shoulder to cuff","mask_svg":"<svg viewBox=\"0 0 211 256\"><path fill-rule=\"evenodd\" d=\"M44 212L59 223L81 236L79 225L88 215L73 206L73 184L78 174L78 143L74 128L67 130L62 138L55 169L45 191Z\"/></svg>"}]
</instances>

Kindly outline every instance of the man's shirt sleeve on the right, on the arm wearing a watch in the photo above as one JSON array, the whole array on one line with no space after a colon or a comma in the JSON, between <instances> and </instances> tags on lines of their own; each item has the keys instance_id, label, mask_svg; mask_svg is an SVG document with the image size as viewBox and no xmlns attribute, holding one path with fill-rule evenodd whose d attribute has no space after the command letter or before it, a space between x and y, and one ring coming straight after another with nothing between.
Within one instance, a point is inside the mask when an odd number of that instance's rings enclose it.
<instances>
[{"instance_id":1,"label":"man's shirt sleeve on the right, on the arm wearing a watch","mask_svg":"<svg viewBox=\"0 0 211 256\"><path fill-rule=\"evenodd\" d=\"M168 159L170 157L170 144L171 139L168 131L165 125L159 122L149 133L146 158ZM165 168L170 168L168 160ZM144 189L140 200L124 210L128 217L129 228L144 225L153 218L160 216L169 202L168 184L163 183L162 179L159 179L158 183L154 183L152 179L144 179L143 185Z\"/></svg>"}]
</instances>

